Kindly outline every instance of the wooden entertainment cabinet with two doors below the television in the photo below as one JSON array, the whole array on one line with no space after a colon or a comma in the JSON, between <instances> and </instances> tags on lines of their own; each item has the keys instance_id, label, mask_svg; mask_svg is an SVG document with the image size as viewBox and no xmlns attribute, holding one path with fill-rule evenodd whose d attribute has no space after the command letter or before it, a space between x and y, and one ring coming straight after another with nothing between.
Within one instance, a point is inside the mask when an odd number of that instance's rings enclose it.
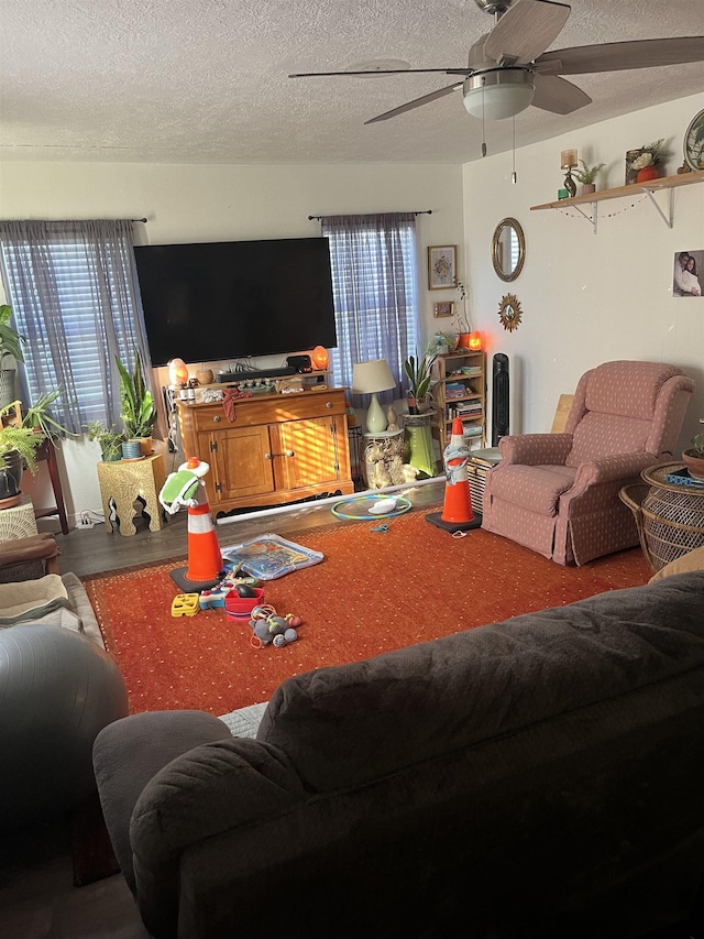
<instances>
[{"instance_id":1,"label":"wooden entertainment cabinet with two doors below the television","mask_svg":"<svg viewBox=\"0 0 704 939\"><path fill-rule=\"evenodd\" d=\"M210 463L206 490L215 513L283 505L354 491L344 389L255 394L234 401L176 402L187 457Z\"/></svg>"}]
</instances>

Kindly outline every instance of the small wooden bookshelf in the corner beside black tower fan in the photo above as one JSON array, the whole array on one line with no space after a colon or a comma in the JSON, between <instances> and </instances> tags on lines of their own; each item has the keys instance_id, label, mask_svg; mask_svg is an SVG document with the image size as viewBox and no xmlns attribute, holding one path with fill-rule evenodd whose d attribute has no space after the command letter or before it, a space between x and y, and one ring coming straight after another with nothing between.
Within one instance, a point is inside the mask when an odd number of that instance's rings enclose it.
<instances>
[{"instance_id":1,"label":"small wooden bookshelf in the corner beside black tower fan","mask_svg":"<svg viewBox=\"0 0 704 939\"><path fill-rule=\"evenodd\" d=\"M433 433L440 447L450 440L452 422L460 417L471 447L486 444L486 375L484 352L460 350L438 356L432 365L437 402Z\"/></svg>"}]
</instances>

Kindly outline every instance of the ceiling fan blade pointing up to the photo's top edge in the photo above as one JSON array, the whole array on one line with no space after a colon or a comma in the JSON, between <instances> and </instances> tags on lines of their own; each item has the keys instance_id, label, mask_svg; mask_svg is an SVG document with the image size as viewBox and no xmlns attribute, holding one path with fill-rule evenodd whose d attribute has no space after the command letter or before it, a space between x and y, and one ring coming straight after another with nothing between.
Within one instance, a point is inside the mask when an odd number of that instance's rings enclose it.
<instances>
[{"instance_id":1,"label":"ceiling fan blade pointing up to the photo's top edge","mask_svg":"<svg viewBox=\"0 0 704 939\"><path fill-rule=\"evenodd\" d=\"M550 0L517 0L490 33L484 52L499 64L532 62L558 37L570 9Z\"/></svg>"}]
</instances>

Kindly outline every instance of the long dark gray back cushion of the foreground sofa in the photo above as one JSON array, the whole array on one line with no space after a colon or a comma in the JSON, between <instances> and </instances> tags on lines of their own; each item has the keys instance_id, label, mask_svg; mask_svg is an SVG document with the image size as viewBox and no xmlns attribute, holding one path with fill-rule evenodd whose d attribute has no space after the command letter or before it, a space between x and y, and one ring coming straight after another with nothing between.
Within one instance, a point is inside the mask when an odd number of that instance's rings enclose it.
<instances>
[{"instance_id":1,"label":"long dark gray back cushion of the foreground sofa","mask_svg":"<svg viewBox=\"0 0 704 939\"><path fill-rule=\"evenodd\" d=\"M311 790L353 787L704 665L693 594L704 571L298 675L257 738Z\"/></svg>"}]
</instances>

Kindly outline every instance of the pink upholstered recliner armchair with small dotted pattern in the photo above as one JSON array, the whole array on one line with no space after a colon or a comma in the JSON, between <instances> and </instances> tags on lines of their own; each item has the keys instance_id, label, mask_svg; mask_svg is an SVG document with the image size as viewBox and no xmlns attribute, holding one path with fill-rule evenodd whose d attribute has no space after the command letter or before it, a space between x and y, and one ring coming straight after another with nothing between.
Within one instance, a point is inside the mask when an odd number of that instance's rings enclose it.
<instances>
[{"instance_id":1,"label":"pink upholstered recliner armchair with small dotted pattern","mask_svg":"<svg viewBox=\"0 0 704 939\"><path fill-rule=\"evenodd\" d=\"M615 361L580 379L563 434L499 440L482 527L558 564L586 564L638 544L622 487L672 455L694 390L681 369Z\"/></svg>"}]
</instances>

